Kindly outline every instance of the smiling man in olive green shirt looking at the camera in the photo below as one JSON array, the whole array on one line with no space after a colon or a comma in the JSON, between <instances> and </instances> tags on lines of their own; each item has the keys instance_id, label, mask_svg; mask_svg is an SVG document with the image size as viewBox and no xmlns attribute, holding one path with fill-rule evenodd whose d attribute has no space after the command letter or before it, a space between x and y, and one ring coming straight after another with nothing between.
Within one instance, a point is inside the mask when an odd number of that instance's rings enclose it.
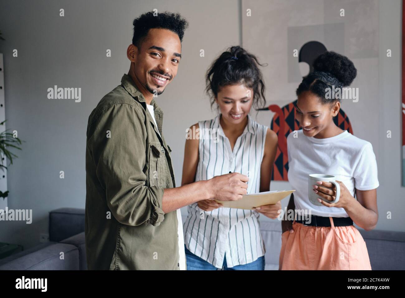
<instances>
[{"instance_id":1,"label":"smiling man in olive green shirt looking at the camera","mask_svg":"<svg viewBox=\"0 0 405 298\"><path fill-rule=\"evenodd\" d=\"M185 269L179 208L203 199L241 199L248 178L232 173L175 187L163 111L153 95L177 74L188 23L179 14L149 12L133 25L130 70L87 124L87 267Z\"/></svg>"}]
</instances>

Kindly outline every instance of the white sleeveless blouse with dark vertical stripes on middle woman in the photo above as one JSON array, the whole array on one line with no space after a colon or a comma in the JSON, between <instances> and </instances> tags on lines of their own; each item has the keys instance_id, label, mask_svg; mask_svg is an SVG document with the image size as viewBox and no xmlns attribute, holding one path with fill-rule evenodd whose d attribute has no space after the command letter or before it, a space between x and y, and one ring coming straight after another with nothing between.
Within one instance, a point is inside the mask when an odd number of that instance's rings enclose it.
<instances>
[{"instance_id":1,"label":"white sleeveless blouse with dark vertical stripes on middle woman","mask_svg":"<svg viewBox=\"0 0 405 298\"><path fill-rule=\"evenodd\" d=\"M200 137L196 181L237 172L249 177L247 193L259 192L260 166L268 127L258 124L248 115L245 130L232 152L220 125L220 116L198 122L200 135L202 128L215 130L213 137ZM255 210L224 207L204 211L197 203L191 204L183 225L185 247L216 268L222 268L224 257L229 268L252 263L265 253L259 215Z\"/></svg>"}]
</instances>

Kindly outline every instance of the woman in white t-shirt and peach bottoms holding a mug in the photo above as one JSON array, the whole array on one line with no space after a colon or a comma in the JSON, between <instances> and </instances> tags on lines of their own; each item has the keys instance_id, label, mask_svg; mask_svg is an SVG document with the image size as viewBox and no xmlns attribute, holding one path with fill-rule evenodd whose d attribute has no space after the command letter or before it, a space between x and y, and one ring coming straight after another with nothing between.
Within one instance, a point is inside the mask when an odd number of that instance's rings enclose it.
<instances>
[{"instance_id":1,"label":"woman in white t-shirt and peach bottoms holding a mug","mask_svg":"<svg viewBox=\"0 0 405 298\"><path fill-rule=\"evenodd\" d=\"M313 66L296 90L296 119L303 129L287 138L288 180L296 189L288 209L311 210L311 223L282 221L279 269L371 270L366 243L353 223L367 231L377 224L377 163L371 143L335 125L340 99L330 94L349 86L357 71L333 51L318 56ZM335 176L338 202L330 203L336 195L332 183L318 181L308 190L309 174ZM309 201L308 191L322 206Z\"/></svg>"}]
</instances>

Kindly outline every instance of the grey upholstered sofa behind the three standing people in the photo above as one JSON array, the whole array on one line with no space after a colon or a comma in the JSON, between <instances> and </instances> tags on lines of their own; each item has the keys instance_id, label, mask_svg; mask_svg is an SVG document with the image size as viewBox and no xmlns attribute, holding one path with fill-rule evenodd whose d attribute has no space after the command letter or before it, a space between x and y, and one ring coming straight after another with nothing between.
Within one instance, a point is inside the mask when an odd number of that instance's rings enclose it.
<instances>
[{"instance_id":1,"label":"grey upholstered sofa behind the three standing people","mask_svg":"<svg viewBox=\"0 0 405 298\"><path fill-rule=\"evenodd\" d=\"M265 270L278 270L281 225L261 220L260 229L266 247ZM50 242L0 259L0 270L87 270L83 231L84 209L53 210L49 212ZM405 270L405 232L359 231L373 270Z\"/></svg>"}]
</instances>

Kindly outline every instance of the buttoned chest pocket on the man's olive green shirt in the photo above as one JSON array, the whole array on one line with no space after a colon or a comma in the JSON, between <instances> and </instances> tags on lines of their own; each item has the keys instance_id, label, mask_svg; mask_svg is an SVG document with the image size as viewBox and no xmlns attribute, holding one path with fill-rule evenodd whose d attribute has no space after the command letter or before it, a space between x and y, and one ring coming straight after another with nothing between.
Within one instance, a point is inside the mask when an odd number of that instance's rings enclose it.
<instances>
[{"instance_id":1,"label":"buttoned chest pocket on the man's olive green shirt","mask_svg":"<svg viewBox=\"0 0 405 298\"><path fill-rule=\"evenodd\" d=\"M165 150L160 142L149 143L149 186L165 188Z\"/></svg>"}]
</instances>

